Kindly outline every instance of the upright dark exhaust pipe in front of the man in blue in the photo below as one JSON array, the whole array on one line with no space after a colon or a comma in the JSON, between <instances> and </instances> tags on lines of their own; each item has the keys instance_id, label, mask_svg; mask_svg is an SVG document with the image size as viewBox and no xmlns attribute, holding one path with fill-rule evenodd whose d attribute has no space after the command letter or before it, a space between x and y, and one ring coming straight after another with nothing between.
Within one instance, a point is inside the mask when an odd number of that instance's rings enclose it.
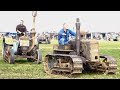
<instances>
[{"instance_id":1,"label":"upright dark exhaust pipe in front of the man in blue","mask_svg":"<svg viewBox=\"0 0 120 90\"><path fill-rule=\"evenodd\" d=\"M80 55L80 20L76 19L76 52Z\"/></svg>"}]
</instances>

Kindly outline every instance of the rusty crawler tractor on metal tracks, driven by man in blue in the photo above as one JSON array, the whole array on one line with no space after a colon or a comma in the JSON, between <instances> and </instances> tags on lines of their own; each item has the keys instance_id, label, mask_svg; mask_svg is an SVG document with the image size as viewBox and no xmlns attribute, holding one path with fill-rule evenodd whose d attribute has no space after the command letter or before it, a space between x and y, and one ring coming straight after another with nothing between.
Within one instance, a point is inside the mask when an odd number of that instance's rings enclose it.
<instances>
[{"instance_id":1,"label":"rusty crawler tractor on metal tracks, driven by man in blue","mask_svg":"<svg viewBox=\"0 0 120 90\"><path fill-rule=\"evenodd\" d=\"M67 45L54 45L53 52L44 60L44 70L48 74L101 72L115 74L116 60L108 55L99 55L97 40L86 40L80 31L79 18L76 19L76 38Z\"/></svg>"}]
</instances>

